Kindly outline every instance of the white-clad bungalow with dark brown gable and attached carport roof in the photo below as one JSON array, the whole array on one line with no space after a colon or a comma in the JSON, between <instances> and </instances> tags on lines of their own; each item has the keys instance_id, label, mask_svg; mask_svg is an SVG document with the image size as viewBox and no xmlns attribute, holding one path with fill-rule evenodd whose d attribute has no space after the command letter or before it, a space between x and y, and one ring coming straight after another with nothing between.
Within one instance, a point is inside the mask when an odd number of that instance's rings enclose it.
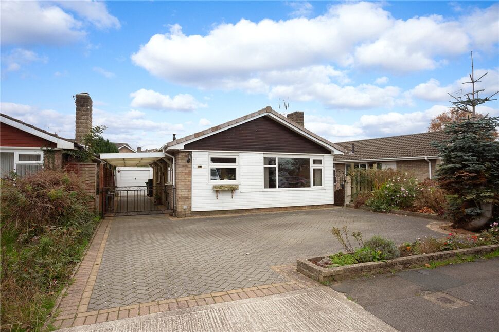
<instances>
[{"instance_id":1,"label":"white-clad bungalow with dark brown gable and attached carport roof","mask_svg":"<svg viewBox=\"0 0 499 332\"><path fill-rule=\"evenodd\" d=\"M158 152L100 157L117 167L151 165L155 203L183 217L331 206L333 159L342 154L340 146L304 127L302 112L285 117L267 106L174 136Z\"/></svg>"}]
</instances>

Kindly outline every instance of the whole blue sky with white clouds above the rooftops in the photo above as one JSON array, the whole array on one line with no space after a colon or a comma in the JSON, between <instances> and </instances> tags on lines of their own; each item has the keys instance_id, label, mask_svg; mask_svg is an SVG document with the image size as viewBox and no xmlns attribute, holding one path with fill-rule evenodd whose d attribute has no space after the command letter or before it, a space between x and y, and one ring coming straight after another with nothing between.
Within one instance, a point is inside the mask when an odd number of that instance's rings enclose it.
<instances>
[{"instance_id":1,"label":"whole blue sky with white clouds above the rooftops","mask_svg":"<svg viewBox=\"0 0 499 332\"><path fill-rule=\"evenodd\" d=\"M1 112L65 138L80 92L105 138L145 149L267 105L333 142L422 133L470 91L470 51L499 90L497 1L0 6Z\"/></svg>"}]
</instances>

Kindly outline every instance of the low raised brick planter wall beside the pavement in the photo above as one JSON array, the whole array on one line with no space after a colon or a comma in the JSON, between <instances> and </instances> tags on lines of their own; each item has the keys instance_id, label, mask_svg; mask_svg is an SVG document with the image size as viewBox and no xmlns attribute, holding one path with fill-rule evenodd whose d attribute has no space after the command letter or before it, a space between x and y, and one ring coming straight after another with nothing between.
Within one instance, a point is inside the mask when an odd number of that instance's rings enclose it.
<instances>
[{"instance_id":1,"label":"low raised brick planter wall beside the pavement","mask_svg":"<svg viewBox=\"0 0 499 332\"><path fill-rule=\"evenodd\" d=\"M408 268L419 267L430 261L443 261L456 256L466 256L473 254L484 254L499 249L499 245L482 246L467 249L457 249L442 252L434 252L429 254L414 255L407 257L399 257L387 262L367 262L332 268L323 268L311 262L320 261L324 257L314 257L311 259L297 259L296 270L305 274L309 278L319 282L337 281L349 278L357 278L359 276L381 273L387 271L399 271ZM328 255L329 256L329 255Z\"/></svg>"}]
</instances>

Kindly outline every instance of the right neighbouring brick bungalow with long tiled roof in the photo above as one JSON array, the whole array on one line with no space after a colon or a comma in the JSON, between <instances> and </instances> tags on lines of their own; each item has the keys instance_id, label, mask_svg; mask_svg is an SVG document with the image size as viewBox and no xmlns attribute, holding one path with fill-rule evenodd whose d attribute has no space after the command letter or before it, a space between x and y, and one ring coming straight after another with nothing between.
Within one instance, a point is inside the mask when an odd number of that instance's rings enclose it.
<instances>
[{"instance_id":1,"label":"right neighbouring brick bungalow with long tiled roof","mask_svg":"<svg viewBox=\"0 0 499 332\"><path fill-rule=\"evenodd\" d=\"M442 131L339 142L336 145L346 152L334 158L334 167L346 175L352 168L391 168L411 172L419 180L431 178L441 164L432 142L445 138Z\"/></svg>"}]
</instances>

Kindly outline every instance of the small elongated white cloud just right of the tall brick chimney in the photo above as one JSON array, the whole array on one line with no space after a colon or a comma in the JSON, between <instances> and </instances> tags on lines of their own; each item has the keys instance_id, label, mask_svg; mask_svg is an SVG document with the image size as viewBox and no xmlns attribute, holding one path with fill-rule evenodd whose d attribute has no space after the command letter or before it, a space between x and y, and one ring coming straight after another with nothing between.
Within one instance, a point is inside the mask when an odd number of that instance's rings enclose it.
<instances>
[{"instance_id":1,"label":"small elongated white cloud just right of the tall brick chimney","mask_svg":"<svg viewBox=\"0 0 499 332\"><path fill-rule=\"evenodd\" d=\"M207 107L206 104L200 103L189 94L179 94L172 98L154 90L140 89L131 93L130 97L133 98L130 104L132 107L180 111L192 111L200 107Z\"/></svg>"}]
</instances>

